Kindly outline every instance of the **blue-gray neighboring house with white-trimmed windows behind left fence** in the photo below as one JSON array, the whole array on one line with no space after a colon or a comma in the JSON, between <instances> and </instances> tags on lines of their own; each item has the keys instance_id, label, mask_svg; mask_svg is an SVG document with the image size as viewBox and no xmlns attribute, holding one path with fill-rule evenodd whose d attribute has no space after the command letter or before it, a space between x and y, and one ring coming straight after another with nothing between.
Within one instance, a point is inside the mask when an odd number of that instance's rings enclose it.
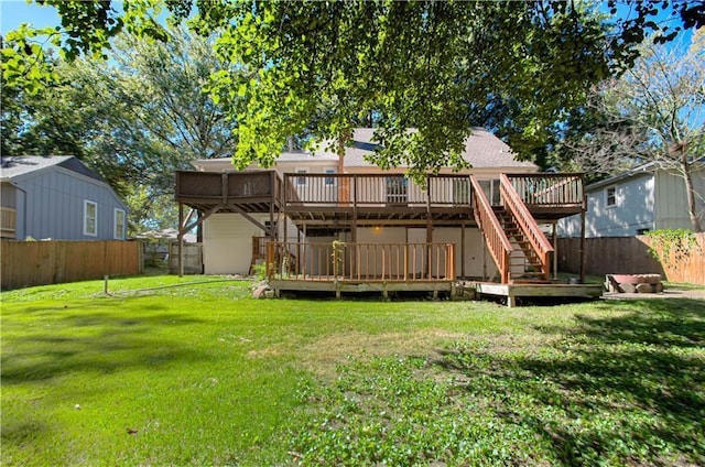
<instances>
[{"instance_id":1,"label":"blue-gray neighboring house with white-trimmed windows behind left fence","mask_svg":"<svg viewBox=\"0 0 705 467\"><path fill-rule=\"evenodd\" d=\"M2 238L124 240L128 208L72 155L2 158Z\"/></svg>"}]
</instances>

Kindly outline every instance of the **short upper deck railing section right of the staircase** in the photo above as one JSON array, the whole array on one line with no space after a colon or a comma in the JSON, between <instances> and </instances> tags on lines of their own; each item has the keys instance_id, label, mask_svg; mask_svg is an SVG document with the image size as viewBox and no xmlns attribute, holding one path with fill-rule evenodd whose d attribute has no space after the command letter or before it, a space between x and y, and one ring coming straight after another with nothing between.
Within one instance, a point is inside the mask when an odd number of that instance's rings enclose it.
<instances>
[{"instance_id":1,"label":"short upper deck railing section right of the staircase","mask_svg":"<svg viewBox=\"0 0 705 467\"><path fill-rule=\"evenodd\" d=\"M583 205L583 174L507 174L521 200L530 206Z\"/></svg>"}]
</instances>

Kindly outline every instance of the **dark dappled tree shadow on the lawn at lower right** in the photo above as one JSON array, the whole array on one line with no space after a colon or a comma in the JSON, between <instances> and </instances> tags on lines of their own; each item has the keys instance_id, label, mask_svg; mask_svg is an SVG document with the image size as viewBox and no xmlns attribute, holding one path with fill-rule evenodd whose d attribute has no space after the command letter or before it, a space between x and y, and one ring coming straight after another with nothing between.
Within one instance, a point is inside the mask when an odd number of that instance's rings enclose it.
<instances>
[{"instance_id":1,"label":"dark dappled tree shadow on the lawn at lower right","mask_svg":"<svg viewBox=\"0 0 705 467\"><path fill-rule=\"evenodd\" d=\"M704 465L704 302L598 307L623 313L542 328L558 339L539 349L458 346L441 366L561 464Z\"/></svg>"}]
</instances>

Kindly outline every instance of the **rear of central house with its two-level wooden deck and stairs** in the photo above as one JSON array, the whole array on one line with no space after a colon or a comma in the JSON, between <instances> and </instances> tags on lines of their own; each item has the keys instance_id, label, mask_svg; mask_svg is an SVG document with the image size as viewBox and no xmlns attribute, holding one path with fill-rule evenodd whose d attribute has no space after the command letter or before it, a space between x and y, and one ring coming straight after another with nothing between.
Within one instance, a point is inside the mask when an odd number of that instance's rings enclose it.
<instances>
[{"instance_id":1,"label":"rear of central house with its two-level wooden deck and stairs","mask_svg":"<svg viewBox=\"0 0 705 467\"><path fill-rule=\"evenodd\" d=\"M206 273L273 265L282 287L550 282L554 249L539 225L584 213L582 175L536 173L481 128L465 144L471 169L423 183L370 163L376 145L372 129L356 129L341 156L285 153L270 171L196 161L198 172L176 173L180 235L203 226Z\"/></svg>"}]
</instances>

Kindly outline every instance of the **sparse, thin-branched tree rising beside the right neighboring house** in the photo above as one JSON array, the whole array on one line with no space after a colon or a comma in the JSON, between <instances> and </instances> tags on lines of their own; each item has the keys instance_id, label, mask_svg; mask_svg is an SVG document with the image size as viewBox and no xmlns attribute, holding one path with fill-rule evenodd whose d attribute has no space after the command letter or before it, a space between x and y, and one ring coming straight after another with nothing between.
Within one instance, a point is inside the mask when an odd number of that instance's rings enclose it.
<instances>
[{"instance_id":1,"label":"sparse, thin-branched tree rising beside the right neighboring house","mask_svg":"<svg viewBox=\"0 0 705 467\"><path fill-rule=\"evenodd\" d=\"M705 158L705 29L688 50L648 46L619 78L596 87L587 128L565 142L578 170L615 174L644 163L683 178L692 228L702 231L693 170ZM584 122L585 126L585 122Z\"/></svg>"}]
</instances>

